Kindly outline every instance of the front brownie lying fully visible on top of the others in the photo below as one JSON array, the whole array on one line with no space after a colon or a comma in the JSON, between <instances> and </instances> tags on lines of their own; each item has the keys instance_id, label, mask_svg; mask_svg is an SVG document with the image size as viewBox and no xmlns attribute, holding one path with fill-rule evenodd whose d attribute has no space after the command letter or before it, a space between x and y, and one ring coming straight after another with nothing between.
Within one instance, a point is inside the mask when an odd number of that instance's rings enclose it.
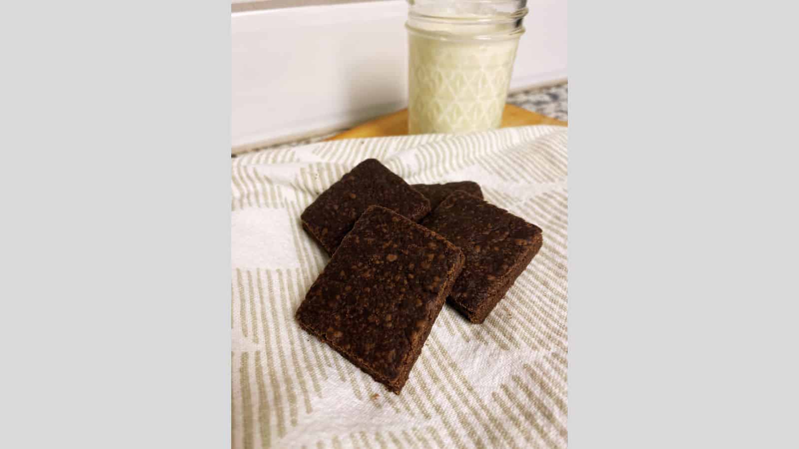
<instances>
[{"instance_id":1,"label":"front brownie lying fully visible on top of the others","mask_svg":"<svg viewBox=\"0 0 799 449\"><path fill-rule=\"evenodd\" d=\"M373 205L341 241L296 317L399 394L462 267L455 245Z\"/></svg>"}]
</instances>

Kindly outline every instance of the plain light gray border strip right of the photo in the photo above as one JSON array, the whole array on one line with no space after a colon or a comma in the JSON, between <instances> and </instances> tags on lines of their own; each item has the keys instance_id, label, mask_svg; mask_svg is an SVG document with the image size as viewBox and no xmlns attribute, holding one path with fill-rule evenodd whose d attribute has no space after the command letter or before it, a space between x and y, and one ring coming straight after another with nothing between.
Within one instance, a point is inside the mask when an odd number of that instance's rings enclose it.
<instances>
[{"instance_id":1,"label":"plain light gray border strip right of the photo","mask_svg":"<svg viewBox=\"0 0 799 449\"><path fill-rule=\"evenodd\" d=\"M797 445L797 28L776 4L570 2L571 447Z\"/></svg>"}]
</instances>

